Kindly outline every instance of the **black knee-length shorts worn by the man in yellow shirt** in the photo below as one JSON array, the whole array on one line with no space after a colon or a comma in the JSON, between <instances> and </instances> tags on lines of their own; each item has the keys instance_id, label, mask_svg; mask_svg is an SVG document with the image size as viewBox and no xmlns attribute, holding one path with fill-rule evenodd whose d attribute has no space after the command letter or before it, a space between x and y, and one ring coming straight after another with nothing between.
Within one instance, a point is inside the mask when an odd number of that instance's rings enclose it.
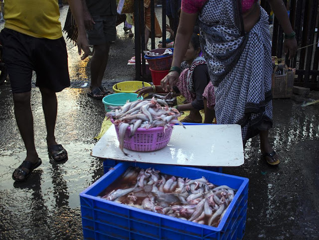
<instances>
[{"instance_id":1,"label":"black knee-length shorts worn by the man in yellow shirt","mask_svg":"<svg viewBox=\"0 0 319 240\"><path fill-rule=\"evenodd\" d=\"M31 91L32 71L36 73L37 87L60 92L70 86L63 37L54 40L36 38L4 28L0 32L0 42L12 93Z\"/></svg>"}]
</instances>

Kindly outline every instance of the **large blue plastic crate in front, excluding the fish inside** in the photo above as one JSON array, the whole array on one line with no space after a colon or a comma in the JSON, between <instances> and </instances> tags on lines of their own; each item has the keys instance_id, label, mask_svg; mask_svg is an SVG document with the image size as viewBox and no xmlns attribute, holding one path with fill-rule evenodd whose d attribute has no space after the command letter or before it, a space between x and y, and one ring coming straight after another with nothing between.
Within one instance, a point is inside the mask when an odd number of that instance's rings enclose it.
<instances>
[{"instance_id":1,"label":"large blue plastic crate in front, excluding the fish inside","mask_svg":"<svg viewBox=\"0 0 319 240\"><path fill-rule=\"evenodd\" d=\"M154 167L162 173L196 179L204 176L216 185L238 189L218 227L145 211L124 204L101 199L98 196L129 166ZM118 240L235 240L245 232L248 179L211 172L199 168L122 162L117 164L93 185L80 194L84 239Z\"/></svg>"}]
</instances>

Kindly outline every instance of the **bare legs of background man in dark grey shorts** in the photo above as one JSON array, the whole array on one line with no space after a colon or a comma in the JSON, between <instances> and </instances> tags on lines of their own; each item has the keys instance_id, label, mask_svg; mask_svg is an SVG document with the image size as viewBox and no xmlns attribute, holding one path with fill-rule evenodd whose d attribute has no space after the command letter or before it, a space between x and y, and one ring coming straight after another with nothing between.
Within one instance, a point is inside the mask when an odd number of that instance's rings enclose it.
<instances>
[{"instance_id":1,"label":"bare legs of background man in dark grey shorts","mask_svg":"<svg viewBox=\"0 0 319 240\"><path fill-rule=\"evenodd\" d=\"M102 79L108 63L109 51L109 42L94 46L94 53L91 59L91 90L102 86ZM101 96L104 96L102 91L100 91L98 97Z\"/></svg>"}]
</instances>

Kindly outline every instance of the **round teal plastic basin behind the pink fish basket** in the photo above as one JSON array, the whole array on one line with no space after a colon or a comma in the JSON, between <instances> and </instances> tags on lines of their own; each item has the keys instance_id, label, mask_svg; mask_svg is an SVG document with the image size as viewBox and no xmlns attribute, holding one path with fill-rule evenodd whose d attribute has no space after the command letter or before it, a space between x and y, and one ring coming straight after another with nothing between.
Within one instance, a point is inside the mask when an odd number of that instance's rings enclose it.
<instances>
[{"instance_id":1,"label":"round teal plastic basin behind the pink fish basket","mask_svg":"<svg viewBox=\"0 0 319 240\"><path fill-rule=\"evenodd\" d=\"M137 101L138 99L143 99L143 97L138 98L138 94L136 93L114 93L108 96L105 96L102 99L102 102L105 107L106 112L110 112L111 110L107 109L108 106L124 106L126 102L129 100L130 102Z\"/></svg>"}]
</instances>

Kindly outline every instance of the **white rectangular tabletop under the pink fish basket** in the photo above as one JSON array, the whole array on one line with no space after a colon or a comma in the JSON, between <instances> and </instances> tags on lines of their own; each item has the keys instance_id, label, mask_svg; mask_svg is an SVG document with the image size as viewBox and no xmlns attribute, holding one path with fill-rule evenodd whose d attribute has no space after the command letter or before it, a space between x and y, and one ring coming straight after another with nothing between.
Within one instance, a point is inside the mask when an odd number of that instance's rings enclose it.
<instances>
[{"instance_id":1,"label":"white rectangular tabletop under the pink fish basket","mask_svg":"<svg viewBox=\"0 0 319 240\"><path fill-rule=\"evenodd\" d=\"M228 167L244 163L241 127L238 124L174 126L170 141L153 152L137 152L119 148L114 125L101 137L92 156L121 161L183 166Z\"/></svg>"}]
</instances>

